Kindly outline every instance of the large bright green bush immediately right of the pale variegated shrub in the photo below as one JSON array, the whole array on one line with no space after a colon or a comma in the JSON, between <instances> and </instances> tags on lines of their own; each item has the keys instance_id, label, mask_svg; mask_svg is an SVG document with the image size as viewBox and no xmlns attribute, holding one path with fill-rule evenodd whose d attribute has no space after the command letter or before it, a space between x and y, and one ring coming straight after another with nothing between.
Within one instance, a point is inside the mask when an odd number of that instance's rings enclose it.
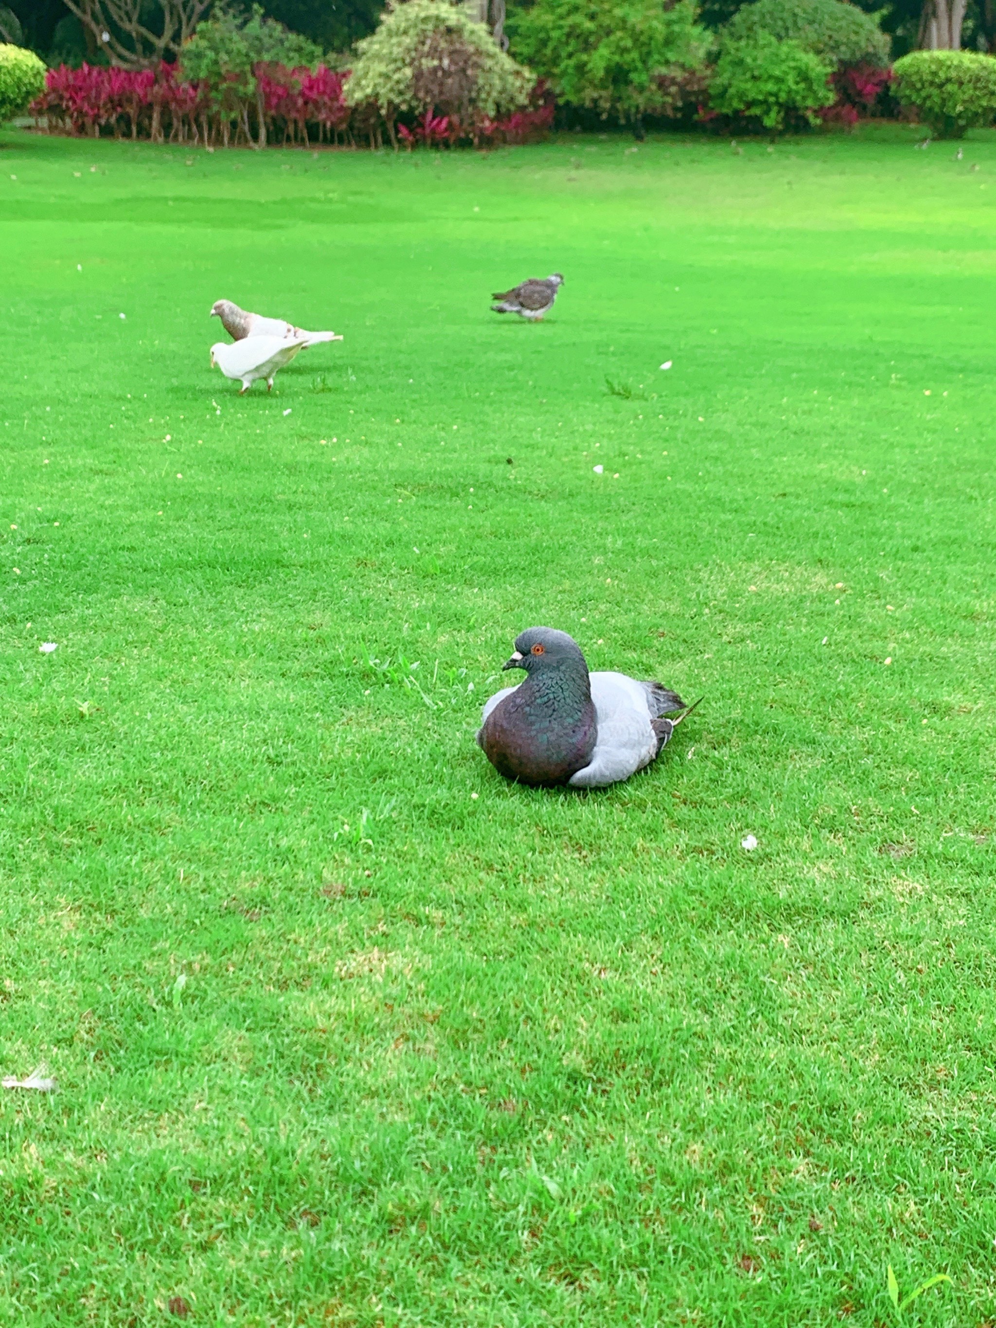
<instances>
[{"instance_id":1,"label":"large bright green bush immediately right of the pale variegated shrub","mask_svg":"<svg viewBox=\"0 0 996 1328\"><path fill-rule=\"evenodd\" d=\"M559 100L619 121L671 110L676 80L705 52L693 0L537 0L509 15L509 31Z\"/></svg>"}]
</instances>

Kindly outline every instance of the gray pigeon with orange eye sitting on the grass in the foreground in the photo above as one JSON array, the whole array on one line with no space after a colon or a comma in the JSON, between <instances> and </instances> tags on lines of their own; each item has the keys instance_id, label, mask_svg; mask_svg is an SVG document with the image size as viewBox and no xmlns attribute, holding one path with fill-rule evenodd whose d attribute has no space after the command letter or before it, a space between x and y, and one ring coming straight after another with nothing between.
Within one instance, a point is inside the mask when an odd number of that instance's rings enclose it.
<instances>
[{"instance_id":1,"label":"gray pigeon with orange eye sitting on the grass in the foreground","mask_svg":"<svg viewBox=\"0 0 996 1328\"><path fill-rule=\"evenodd\" d=\"M602 789L628 780L699 704L660 683L588 673L576 641L552 627L522 632L503 668L525 669L526 681L485 703L477 741L499 774L521 784Z\"/></svg>"}]
</instances>

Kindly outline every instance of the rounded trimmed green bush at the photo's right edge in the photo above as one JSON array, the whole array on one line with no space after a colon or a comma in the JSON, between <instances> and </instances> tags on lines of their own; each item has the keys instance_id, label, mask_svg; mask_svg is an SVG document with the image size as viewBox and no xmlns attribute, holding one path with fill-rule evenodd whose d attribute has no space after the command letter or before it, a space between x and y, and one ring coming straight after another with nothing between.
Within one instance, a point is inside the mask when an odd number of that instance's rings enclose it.
<instances>
[{"instance_id":1,"label":"rounded trimmed green bush at the photo's right edge","mask_svg":"<svg viewBox=\"0 0 996 1328\"><path fill-rule=\"evenodd\" d=\"M914 50L895 62L895 92L935 138L961 138L996 114L996 60L971 50Z\"/></svg>"}]
</instances>

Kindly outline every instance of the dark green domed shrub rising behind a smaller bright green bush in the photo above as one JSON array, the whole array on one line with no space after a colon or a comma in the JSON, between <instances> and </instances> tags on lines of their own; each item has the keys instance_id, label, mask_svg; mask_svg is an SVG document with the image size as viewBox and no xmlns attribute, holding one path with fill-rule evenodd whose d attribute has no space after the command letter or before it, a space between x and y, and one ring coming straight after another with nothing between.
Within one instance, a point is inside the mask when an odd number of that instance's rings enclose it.
<instances>
[{"instance_id":1,"label":"dark green domed shrub rising behind a smaller bright green bush","mask_svg":"<svg viewBox=\"0 0 996 1328\"><path fill-rule=\"evenodd\" d=\"M888 61L888 37L875 19L842 0L756 0L726 24L722 42L752 42L762 33L795 41L831 68Z\"/></svg>"}]
</instances>

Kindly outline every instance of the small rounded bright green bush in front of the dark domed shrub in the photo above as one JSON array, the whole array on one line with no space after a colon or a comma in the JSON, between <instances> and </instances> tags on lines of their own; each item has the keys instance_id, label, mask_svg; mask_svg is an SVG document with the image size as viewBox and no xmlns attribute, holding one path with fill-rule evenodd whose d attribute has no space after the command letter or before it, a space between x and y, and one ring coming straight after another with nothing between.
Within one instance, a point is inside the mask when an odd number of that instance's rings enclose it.
<instances>
[{"instance_id":1,"label":"small rounded bright green bush in front of the dark domed shrub","mask_svg":"<svg viewBox=\"0 0 996 1328\"><path fill-rule=\"evenodd\" d=\"M724 42L709 84L709 105L776 131L793 118L815 125L817 110L835 96L830 73L829 64L797 41L760 32L753 41Z\"/></svg>"}]
</instances>

